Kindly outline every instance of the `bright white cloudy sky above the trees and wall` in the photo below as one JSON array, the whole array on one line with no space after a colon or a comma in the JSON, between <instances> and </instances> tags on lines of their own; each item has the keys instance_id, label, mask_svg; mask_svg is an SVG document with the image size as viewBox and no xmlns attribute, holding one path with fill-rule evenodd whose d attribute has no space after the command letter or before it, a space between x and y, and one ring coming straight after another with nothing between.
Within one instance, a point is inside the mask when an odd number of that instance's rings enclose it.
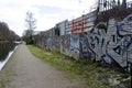
<instances>
[{"instance_id":1,"label":"bright white cloudy sky above the trees and wall","mask_svg":"<svg viewBox=\"0 0 132 88\"><path fill-rule=\"evenodd\" d=\"M88 13L96 0L0 0L0 21L22 36L26 12L36 19L35 31L46 31L56 23Z\"/></svg>"}]
</instances>

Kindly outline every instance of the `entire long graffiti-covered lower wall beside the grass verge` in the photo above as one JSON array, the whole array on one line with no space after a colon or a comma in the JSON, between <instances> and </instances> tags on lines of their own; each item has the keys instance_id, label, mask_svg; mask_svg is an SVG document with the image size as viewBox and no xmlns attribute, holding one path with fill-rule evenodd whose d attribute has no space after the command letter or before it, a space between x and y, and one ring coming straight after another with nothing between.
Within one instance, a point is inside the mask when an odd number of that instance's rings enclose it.
<instances>
[{"instance_id":1,"label":"entire long graffiti-covered lower wall beside the grass verge","mask_svg":"<svg viewBox=\"0 0 132 88\"><path fill-rule=\"evenodd\" d=\"M58 50L77 61L94 58L108 65L128 67L128 62L132 62L132 14L122 21L110 19L109 22L100 22L87 33L62 36L42 34L36 40L37 45Z\"/></svg>"}]
</instances>

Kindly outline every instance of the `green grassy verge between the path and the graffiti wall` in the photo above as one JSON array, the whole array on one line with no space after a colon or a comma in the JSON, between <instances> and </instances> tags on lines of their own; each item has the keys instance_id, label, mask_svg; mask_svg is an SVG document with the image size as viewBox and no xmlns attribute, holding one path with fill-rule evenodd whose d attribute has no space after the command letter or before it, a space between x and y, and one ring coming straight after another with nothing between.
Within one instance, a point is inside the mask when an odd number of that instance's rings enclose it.
<instances>
[{"instance_id":1,"label":"green grassy verge between the path and the graffiti wall","mask_svg":"<svg viewBox=\"0 0 132 88\"><path fill-rule=\"evenodd\" d=\"M28 45L32 54L53 66L69 72L80 78L89 88L129 88L130 75L102 67L88 59L76 62L63 54L44 51L34 45Z\"/></svg>"}]
</instances>

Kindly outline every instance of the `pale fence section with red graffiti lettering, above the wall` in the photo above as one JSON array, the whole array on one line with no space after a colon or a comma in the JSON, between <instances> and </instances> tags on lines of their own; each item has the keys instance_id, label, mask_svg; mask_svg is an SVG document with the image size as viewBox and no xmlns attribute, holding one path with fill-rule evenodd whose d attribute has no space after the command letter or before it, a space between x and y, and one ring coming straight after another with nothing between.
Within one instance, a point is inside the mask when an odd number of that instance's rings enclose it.
<instances>
[{"instance_id":1,"label":"pale fence section with red graffiti lettering, above the wall","mask_svg":"<svg viewBox=\"0 0 132 88\"><path fill-rule=\"evenodd\" d=\"M72 33L88 32L92 29L96 20L96 11L82 14L72 21Z\"/></svg>"}]
</instances>

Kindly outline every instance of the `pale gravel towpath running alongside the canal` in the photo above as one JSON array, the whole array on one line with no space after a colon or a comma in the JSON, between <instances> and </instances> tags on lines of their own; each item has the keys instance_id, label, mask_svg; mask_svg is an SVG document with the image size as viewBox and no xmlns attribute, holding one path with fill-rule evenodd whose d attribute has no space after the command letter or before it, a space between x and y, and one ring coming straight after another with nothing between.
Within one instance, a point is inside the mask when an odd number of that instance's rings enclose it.
<instances>
[{"instance_id":1,"label":"pale gravel towpath running alongside the canal","mask_svg":"<svg viewBox=\"0 0 132 88\"><path fill-rule=\"evenodd\" d=\"M11 66L6 88L87 88L63 70L34 57L23 44L15 51Z\"/></svg>"}]
</instances>

